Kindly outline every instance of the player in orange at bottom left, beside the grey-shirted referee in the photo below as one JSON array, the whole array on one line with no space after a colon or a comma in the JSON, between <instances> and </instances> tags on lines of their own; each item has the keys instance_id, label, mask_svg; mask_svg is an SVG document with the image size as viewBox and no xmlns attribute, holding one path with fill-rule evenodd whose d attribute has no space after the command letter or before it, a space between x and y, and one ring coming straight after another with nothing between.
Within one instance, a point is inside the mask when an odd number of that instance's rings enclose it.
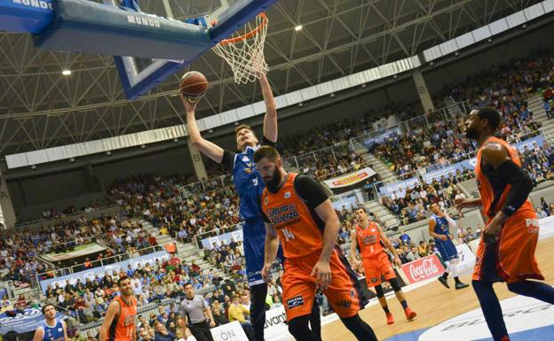
<instances>
[{"instance_id":1,"label":"player in orange at bottom left, beside the grey-shirted referee","mask_svg":"<svg viewBox=\"0 0 554 341\"><path fill-rule=\"evenodd\" d=\"M107 307L99 341L137 341L137 300L133 296L131 278L121 277L117 286L121 295L116 296Z\"/></svg>"}]
</instances>

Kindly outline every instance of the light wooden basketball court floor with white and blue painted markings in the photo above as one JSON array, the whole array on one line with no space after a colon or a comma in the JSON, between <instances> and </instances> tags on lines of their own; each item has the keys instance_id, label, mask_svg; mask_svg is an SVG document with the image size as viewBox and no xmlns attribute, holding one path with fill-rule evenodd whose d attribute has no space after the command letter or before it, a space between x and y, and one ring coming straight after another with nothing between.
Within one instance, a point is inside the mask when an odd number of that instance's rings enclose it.
<instances>
[{"instance_id":1,"label":"light wooden basketball court floor with white and blue painted markings","mask_svg":"<svg viewBox=\"0 0 554 341\"><path fill-rule=\"evenodd\" d=\"M554 238L539 241L537 259L546 283L554 284ZM471 274L461 276L471 283ZM449 278L450 283L454 281ZM501 300L504 320L511 341L554 341L554 306L524 298L507 290L504 283L495 284ZM409 306L417 313L407 322L400 303L394 296L387 298L395 323L387 326L381 306L373 304L360 311L360 317L376 331L379 340L386 341L492 341L479 302L470 288L447 290L433 280L406 292ZM324 341L355 341L336 320L321 329Z\"/></svg>"}]
</instances>

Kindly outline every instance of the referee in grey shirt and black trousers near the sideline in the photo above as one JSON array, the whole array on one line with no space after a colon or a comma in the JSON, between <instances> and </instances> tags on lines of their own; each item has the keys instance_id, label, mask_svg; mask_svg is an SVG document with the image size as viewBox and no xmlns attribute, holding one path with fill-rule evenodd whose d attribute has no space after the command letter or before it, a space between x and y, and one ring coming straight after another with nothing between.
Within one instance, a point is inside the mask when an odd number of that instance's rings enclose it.
<instances>
[{"instance_id":1,"label":"referee in grey shirt and black trousers near the sideline","mask_svg":"<svg viewBox=\"0 0 554 341\"><path fill-rule=\"evenodd\" d=\"M210 306L200 295L194 295L193 284L185 284L185 299L179 307L181 316L183 316L183 329L191 330L191 334L198 341L214 341L211 337L210 328L216 326L213 315L211 314ZM206 319L208 316L208 319Z\"/></svg>"}]
</instances>

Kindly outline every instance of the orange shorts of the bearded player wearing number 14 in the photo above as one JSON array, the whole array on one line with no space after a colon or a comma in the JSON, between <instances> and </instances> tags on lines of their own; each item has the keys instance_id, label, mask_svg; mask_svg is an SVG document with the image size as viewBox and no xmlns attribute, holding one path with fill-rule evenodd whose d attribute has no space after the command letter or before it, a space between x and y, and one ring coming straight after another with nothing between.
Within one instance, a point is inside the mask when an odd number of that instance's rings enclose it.
<instances>
[{"instance_id":1,"label":"orange shorts of the bearded player wearing number 14","mask_svg":"<svg viewBox=\"0 0 554 341\"><path fill-rule=\"evenodd\" d=\"M316 277L311 275L321 251L303 257L285 260L285 272L281 278L282 298L287 320L311 314L316 291ZM344 264L346 262L346 264ZM331 283L323 294L340 317L352 317L360 310L361 292L356 289L356 275L347 260L333 250Z\"/></svg>"}]
</instances>

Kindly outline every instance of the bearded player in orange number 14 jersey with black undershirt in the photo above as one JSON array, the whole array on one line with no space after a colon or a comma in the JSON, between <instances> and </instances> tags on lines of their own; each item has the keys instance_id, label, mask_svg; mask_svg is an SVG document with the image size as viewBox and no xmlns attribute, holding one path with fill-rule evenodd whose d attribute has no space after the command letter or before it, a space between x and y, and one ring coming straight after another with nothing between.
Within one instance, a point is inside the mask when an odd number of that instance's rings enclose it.
<instances>
[{"instance_id":1,"label":"bearded player in orange number 14 jersey with black undershirt","mask_svg":"<svg viewBox=\"0 0 554 341\"><path fill-rule=\"evenodd\" d=\"M286 173L279 152L270 146L260 147L254 162L266 185L260 198L266 230L262 275L269 275L281 240L285 255L282 298L290 334L299 341L317 340L308 322L319 288L358 340L376 341L371 327L358 315L367 300L336 246L340 221L321 183Z\"/></svg>"}]
</instances>

